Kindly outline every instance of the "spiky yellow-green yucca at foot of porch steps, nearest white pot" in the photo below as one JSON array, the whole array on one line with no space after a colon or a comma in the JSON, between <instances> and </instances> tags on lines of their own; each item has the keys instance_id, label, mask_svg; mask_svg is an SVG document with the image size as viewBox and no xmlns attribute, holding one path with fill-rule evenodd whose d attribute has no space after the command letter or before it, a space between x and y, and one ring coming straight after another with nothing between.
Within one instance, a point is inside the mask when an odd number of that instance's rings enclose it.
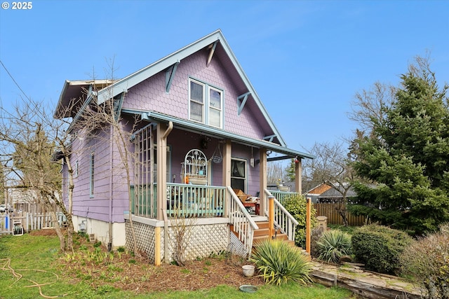
<instances>
[{"instance_id":1,"label":"spiky yellow-green yucca at foot of porch steps, nearest white pot","mask_svg":"<svg viewBox=\"0 0 449 299\"><path fill-rule=\"evenodd\" d=\"M279 239L267 239L258 244L250 261L255 263L266 284L279 286L295 281L306 285L311 282L311 263L297 247Z\"/></svg>"}]
</instances>

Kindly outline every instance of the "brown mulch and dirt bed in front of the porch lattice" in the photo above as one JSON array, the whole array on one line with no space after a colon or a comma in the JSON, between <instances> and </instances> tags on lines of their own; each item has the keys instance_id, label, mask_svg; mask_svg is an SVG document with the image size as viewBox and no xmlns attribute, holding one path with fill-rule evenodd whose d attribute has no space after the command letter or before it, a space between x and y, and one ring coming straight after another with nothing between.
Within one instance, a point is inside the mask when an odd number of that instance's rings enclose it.
<instances>
[{"instance_id":1,"label":"brown mulch and dirt bed in front of the porch lattice","mask_svg":"<svg viewBox=\"0 0 449 299\"><path fill-rule=\"evenodd\" d=\"M42 233L48 232L39 232L39 235ZM94 247L85 238L75 237L75 243L74 253L66 253L58 264L65 278L72 283L85 281L93 288L109 285L135 293L147 293L264 284L260 277L243 276L241 266L248 264L248 261L239 256L211 256L189 261L184 267L166 263L154 266L147 258L126 251L107 253L104 246Z\"/></svg>"}]
</instances>

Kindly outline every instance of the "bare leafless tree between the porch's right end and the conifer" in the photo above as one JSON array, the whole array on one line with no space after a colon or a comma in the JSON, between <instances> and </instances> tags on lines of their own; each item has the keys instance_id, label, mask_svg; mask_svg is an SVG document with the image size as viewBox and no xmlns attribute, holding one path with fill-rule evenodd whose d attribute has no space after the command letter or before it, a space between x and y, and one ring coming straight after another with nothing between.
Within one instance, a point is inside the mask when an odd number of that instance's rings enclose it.
<instances>
[{"instance_id":1,"label":"bare leafless tree between the porch's right end and the conifer","mask_svg":"<svg viewBox=\"0 0 449 299\"><path fill-rule=\"evenodd\" d=\"M342 195L338 200L337 211L342 216L344 225L348 225L347 193L351 188L354 173L349 165L348 151L344 148L344 143L314 144L309 153L316 158L304 160L304 172L311 181L326 183Z\"/></svg>"}]
</instances>

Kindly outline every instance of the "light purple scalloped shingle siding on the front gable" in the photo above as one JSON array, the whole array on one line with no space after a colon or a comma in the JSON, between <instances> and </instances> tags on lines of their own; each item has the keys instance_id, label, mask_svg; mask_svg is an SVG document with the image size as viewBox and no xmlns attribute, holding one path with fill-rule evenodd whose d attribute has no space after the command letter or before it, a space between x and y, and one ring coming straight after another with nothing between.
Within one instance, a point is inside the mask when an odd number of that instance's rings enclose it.
<instances>
[{"instance_id":1,"label":"light purple scalloped shingle siding on the front gable","mask_svg":"<svg viewBox=\"0 0 449 299\"><path fill-rule=\"evenodd\" d=\"M196 78L224 90L225 127L227 132L242 136L262 139L268 132L262 132L259 121L249 109L237 114L237 97L240 95L234 88L232 78L217 59L213 59L206 67L208 51L201 50L181 61L170 88L166 93L166 74L161 72L148 78L128 90L123 108L142 111L158 111L177 118L188 119L189 77Z\"/></svg>"}]
</instances>

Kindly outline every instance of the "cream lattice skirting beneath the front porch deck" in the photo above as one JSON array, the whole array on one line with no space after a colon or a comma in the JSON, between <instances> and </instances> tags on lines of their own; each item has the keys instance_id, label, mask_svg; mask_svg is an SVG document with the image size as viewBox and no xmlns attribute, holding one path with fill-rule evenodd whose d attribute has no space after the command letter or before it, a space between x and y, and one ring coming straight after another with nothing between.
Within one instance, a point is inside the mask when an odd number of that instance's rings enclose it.
<instances>
[{"instance_id":1,"label":"cream lattice skirting beneath the front porch deck","mask_svg":"<svg viewBox=\"0 0 449 299\"><path fill-rule=\"evenodd\" d=\"M137 221L133 221L133 227L138 250L145 253L150 262L154 263L155 227ZM161 228L161 259L165 259L167 263L173 260L176 231L183 228L185 228L185 240L188 241L185 249L185 258L187 260L205 258L214 253L229 251L231 247L229 246L230 235L233 234L230 234L229 226L226 223L208 225L196 225L188 222L185 225L182 223L178 225L170 223L167 232L165 232L164 228ZM166 235L168 236L167 242L165 241ZM167 249L165 249L165 243L167 243ZM129 220L126 220L126 248L130 251L133 250L133 235Z\"/></svg>"}]
</instances>

